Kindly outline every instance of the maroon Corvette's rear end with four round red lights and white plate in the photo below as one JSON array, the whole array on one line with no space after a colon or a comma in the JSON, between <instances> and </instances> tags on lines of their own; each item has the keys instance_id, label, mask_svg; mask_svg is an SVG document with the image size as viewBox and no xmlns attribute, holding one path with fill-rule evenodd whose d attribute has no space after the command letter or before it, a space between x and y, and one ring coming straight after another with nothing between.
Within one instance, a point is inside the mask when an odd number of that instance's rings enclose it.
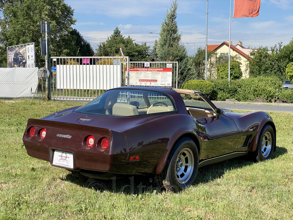
<instances>
[{"instance_id":1,"label":"maroon Corvette's rear end with four round red lights and white plate","mask_svg":"<svg viewBox=\"0 0 293 220\"><path fill-rule=\"evenodd\" d=\"M78 123L29 119L23 143L28 155L72 171L123 173L128 157L122 132Z\"/></svg>"}]
</instances>

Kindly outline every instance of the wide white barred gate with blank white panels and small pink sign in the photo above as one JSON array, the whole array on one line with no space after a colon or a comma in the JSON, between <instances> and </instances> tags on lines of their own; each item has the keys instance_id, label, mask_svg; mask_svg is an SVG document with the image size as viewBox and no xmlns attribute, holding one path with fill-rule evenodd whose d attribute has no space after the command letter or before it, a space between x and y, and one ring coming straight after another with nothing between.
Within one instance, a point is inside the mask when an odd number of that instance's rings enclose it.
<instances>
[{"instance_id":1,"label":"wide white barred gate with blank white panels and small pink sign","mask_svg":"<svg viewBox=\"0 0 293 220\"><path fill-rule=\"evenodd\" d=\"M51 57L51 98L92 100L125 86L128 57Z\"/></svg>"}]
</instances>

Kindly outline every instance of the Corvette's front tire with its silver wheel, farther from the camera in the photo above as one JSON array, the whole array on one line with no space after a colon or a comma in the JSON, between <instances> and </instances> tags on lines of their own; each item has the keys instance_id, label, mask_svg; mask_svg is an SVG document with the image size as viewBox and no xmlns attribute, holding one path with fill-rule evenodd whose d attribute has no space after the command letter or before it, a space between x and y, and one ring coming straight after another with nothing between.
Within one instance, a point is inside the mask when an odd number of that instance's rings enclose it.
<instances>
[{"instance_id":1,"label":"Corvette's front tire with its silver wheel, farther from the camera","mask_svg":"<svg viewBox=\"0 0 293 220\"><path fill-rule=\"evenodd\" d=\"M250 152L249 158L253 161L259 162L269 160L275 148L275 133L269 124L265 125L258 137L256 149Z\"/></svg>"}]
</instances>

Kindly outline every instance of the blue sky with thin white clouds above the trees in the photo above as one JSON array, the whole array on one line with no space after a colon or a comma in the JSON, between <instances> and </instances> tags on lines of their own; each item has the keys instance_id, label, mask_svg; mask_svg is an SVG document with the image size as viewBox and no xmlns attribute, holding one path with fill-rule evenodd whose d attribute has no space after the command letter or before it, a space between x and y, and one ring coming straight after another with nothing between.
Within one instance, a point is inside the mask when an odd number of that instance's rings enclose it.
<instances>
[{"instance_id":1,"label":"blue sky with thin white clouds above the trees","mask_svg":"<svg viewBox=\"0 0 293 220\"><path fill-rule=\"evenodd\" d=\"M74 9L76 28L93 49L105 41L116 26L136 43L147 42L151 48L158 39L161 22L172 0L65 0ZM177 24L188 54L205 47L206 0L178 0ZM232 1L233 2L233 1ZM229 40L229 0L209 0L208 44ZM232 3L233 15L233 3ZM149 33L153 32L153 34ZM231 40L244 47L283 45L293 38L293 0L261 0L256 18L234 18ZM189 43L186 44L186 43Z\"/></svg>"}]
</instances>

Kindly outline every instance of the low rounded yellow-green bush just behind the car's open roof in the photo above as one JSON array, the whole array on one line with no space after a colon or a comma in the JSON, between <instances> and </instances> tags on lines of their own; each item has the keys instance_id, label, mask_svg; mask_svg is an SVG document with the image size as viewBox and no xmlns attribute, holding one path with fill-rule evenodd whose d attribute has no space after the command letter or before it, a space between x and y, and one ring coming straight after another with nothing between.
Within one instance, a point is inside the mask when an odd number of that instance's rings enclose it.
<instances>
[{"instance_id":1,"label":"low rounded yellow-green bush just behind the car's open roof","mask_svg":"<svg viewBox=\"0 0 293 220\"><path fill-rule=\"evenodd\" d=\"M194 79L187 81L183 85L183 89L197 90L210 97L214 89L214 84L207 80Z\"/></svg>"}]
</instances>

